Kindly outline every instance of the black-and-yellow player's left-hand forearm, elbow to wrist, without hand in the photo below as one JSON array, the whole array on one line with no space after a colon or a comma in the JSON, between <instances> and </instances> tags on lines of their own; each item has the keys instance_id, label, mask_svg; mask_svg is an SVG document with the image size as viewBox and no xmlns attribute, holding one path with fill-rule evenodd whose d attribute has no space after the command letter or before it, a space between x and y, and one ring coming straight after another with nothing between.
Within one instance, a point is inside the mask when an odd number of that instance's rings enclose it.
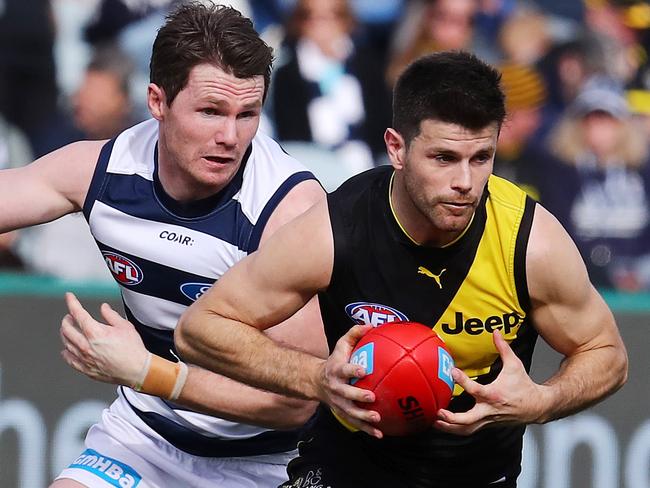
<instances>
[{"instance_id":1,"label":"black-and-yellow player's left-hand forearm, elbow to wrist, without hand","mask_svg":"<svg viewBox=\"0 0 650 488\"><path fill-rule=\"evenodd\" d=\"M318 377L325 360L281 346L252 326L198 310L181 318L174 341L185 360L210 371L282 395L320 400Z\"/></svg>"}]
</instances>

